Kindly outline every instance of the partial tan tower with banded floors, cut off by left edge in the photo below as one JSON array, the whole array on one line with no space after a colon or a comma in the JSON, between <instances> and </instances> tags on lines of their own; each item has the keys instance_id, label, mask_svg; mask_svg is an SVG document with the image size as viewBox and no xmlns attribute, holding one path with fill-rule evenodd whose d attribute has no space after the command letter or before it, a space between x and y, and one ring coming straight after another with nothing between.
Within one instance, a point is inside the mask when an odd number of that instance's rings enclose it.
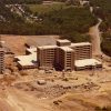
<instances>
[{"instance_id":1,"label":"partial tan tower with banded floors, cut off by left edge","mask_svg":"<svg viewBox=\"0 0 111 111\"><path fill-rule=\"evenodd\" d=\"M4 71L4 50L0 48L0 74Z\"/></svg>"}]
</instances>

